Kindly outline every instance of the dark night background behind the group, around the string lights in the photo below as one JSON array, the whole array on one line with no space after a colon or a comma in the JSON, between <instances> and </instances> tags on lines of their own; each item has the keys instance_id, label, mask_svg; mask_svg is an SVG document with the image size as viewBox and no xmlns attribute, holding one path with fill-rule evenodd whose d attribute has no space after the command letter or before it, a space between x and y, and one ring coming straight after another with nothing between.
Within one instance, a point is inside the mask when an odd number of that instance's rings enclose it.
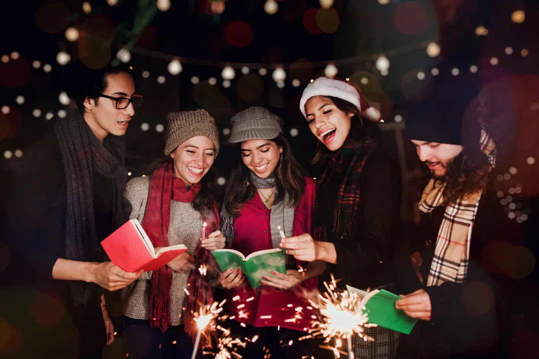
<instances>
[{"instance_id":1,"label":"dark night background behind the group, around the string lights","mask_svg":"<svg viewBox=\"0 0 539 359\"><path fill-rule=\"evenodd\" d=\"M226 142L230 118L253 105L269 107L282 116L296 158L317 177L320 168L309 164L316 140L301 115L299 101L307 83L323 75L333 61L337 76L355 82L381 109L384 123L380 126L402 167L402 217L410 222L421 171L403 131L407 110L414 101L428 98L458 69L458 76L490 99L489 131L500 136L503 150L490 186L500 191L501 201L505 200L500 206L522 222L526 233L523 254L515 264L524 273L522 292L515 293L522 297L518 312L523 332L519 335L533 339L530 342L535 342L535 357L539 357L535 266L539 253L539 2L334 0L328 2L333 3L329 9L321 9L326 2L277 1L277 12L269 15L264 0L172 0L167 11L158 10L155 0L119 0L114 6L110 5L113 0L93 0L88 2L90 13L83 11L79 0L2 1L0 168L9 171L27 146L51 132L59 110L67 116L74 110L73 101L63 105L58 98L62 91L70 91L71 67L105 66L127 46L129 65L137 74L137 92L144 96L126 134L132 177L149 174L154 161L163 157L164 132L156 126L166 124L168 112L204 108L216 118L221 133L222 151L214 166L226 179L233 150ZM525 12L523 22L512 20L516 10ZM68 27L78 29L77 41L66 40ZM434 57L426 52L430 42L440 47ZM60 51L70 54L70 64L58 64ZM390 61L386 76L375 66L381 55ZM183 67L178 75L167 70L175 57ZM36 60L38 68L32 66ZM45 64L52 65L52 71L45 72ZM223 86L221 75L227 64L236 72L229 88ZM473 65L477 71L471 71ZM241 72L243 66L249 74ZM286 71L283 88L272 79L277 66ZM267 69L267 74L259 75L260 68ZM164 76L165 82L159 83L158 76ZM194 76L199 79L196 84ZM215 85L210 85L210 78L216 79ZM295 87L298 84L293 80L300 85ZM24 103L19 104L17 96L23 96ZM37 117L36 109L40 110ZM143 124L148 130L143 130ZM298 134L292 136L295 130ZM39 173L35 175L39 181ZM6 176L1 178L0 198L9 191ZM0 271L3 261L9 259L0 254Z\"/></svg>"}]
</instances>

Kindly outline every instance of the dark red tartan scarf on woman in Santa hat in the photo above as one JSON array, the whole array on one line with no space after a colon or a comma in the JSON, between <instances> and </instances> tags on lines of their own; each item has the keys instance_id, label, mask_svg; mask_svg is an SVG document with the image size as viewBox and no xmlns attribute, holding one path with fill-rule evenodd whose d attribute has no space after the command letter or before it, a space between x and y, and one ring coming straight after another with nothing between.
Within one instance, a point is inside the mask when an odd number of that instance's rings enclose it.
<instances>
[{"instance_id":1,"label":"dark red tartan scarf on woman in Santa hat","mask_svg":"<svg viewBox=\"0 0 539 359\"><path fill-rule=\"evenodd\" d=\"M341 233L341 222L344 219L344 233L347 238L354 235L354 215L360 208L360 178L363 165L369 154L376 148L376 143L370 136L362 139L360 147L354 149L354 138L349 136L341 149L335 151L328 161L328 167L323 172L314 201L313 223L320 223L314 228L314 236L317 241L326 241L326 224L322 219L320 210L320 196L322 189L337 171L345 170L344 178L337 193L337 205L333 214L333 227L331 231Z\"/></svg>"}]
</instances>

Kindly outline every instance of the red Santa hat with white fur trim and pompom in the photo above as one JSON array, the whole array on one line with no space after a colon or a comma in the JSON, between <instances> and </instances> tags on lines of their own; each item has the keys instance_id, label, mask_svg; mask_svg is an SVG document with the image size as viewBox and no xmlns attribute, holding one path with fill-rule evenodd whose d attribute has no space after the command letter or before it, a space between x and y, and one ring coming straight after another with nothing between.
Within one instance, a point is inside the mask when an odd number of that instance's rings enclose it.
<instances>
[{"instance_id":1,"label":"red Santa hat with white fur trim and pompom","mask_svg":"<svg viewBox=\"0 0 539 359\"><path fill-rule=\"evenodd\" d=\"M303 90L300 101L300 110L305 117L307 117L305 115L305 104L309 98L314 96L331 96L348 101L360 110L364 118L372 122L378 122L382 118L380 111L372 107L367 101L367 98L354 85L340 79L321 77L307 85L305 90Z\"/></svg>"}]
</instances>

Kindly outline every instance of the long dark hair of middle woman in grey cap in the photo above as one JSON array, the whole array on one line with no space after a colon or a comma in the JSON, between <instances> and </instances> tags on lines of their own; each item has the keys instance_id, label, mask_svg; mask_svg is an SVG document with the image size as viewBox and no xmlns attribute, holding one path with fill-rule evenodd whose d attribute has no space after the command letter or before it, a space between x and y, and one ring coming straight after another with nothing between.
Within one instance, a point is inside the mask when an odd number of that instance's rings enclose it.
<instances>
[{"instance_id":1,"label":"long dark hair of middle woman in grey cap","mask_svg":"<svg viewBox=\"0 0 539 359\"><path fill-rule=\"evenodd\" d=\"M270 141L282 147L282 159L275 166L275 187L277 196L274 203L284 201L285 194L288 194L287 207L297 207L303 193L305 193L306 172L292 155L290 144L280 133L277 137L269 139ZM246 186L247 179L251 170L245 166L241 160L241 143L237 146L237 164L233 168L228 184L226 185L226 199L224 206L233 217L237 218L243 205L241 203L248 201L257 193L254 186ZM281 176L279 177L279 167L281 167ZM202 192L202 191L201 191Z\"/></svg>"}]
</instances>

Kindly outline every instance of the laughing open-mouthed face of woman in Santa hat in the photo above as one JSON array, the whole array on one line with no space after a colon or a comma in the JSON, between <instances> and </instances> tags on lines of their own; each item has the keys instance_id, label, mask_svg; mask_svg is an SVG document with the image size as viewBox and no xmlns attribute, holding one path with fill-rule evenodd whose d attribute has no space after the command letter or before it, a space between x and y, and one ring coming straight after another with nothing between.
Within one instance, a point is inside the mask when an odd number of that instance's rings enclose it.
<instances>
[{"instance_id":1,"label":"laughing open-mouthed face of woman in Santa hat","mask_svg":"<svg viewBox=\"0 0 539 359\"><path fill-rule=\"evenodd\" d=\"M305 113L310 131L330 151L342 147L350 132L353 112L341 111L330 98L314 96L305 104Z\"/></svg>"}]
</instances>

